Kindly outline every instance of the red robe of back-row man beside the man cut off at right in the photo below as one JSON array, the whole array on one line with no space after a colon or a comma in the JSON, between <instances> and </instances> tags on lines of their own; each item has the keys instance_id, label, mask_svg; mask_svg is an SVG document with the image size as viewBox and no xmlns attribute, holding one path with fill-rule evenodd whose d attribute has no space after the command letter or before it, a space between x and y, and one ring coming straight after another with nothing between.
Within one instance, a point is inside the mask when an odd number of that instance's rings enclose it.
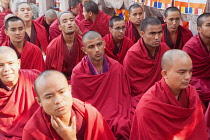
<instances>
[{"instance_id":1,"label":"red robe of back-row man beside the man cut off at right","mask_svg":"<svg viewBox=\"0 0 210 140\"><path fill-rule=\"evenodd\" d=\"M176 44L173 44L166 24L162 25L162 42L166 43L171 49L182 49L191 37L193 37L192 32L184 26L179 25Z\"/></svg>"}]
</instances>

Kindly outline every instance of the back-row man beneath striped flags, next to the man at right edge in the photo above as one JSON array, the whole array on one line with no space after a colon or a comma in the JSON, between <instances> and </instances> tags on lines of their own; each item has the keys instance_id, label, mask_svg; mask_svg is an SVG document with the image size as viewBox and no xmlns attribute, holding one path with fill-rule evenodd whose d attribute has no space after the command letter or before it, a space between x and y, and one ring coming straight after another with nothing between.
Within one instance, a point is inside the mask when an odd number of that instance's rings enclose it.
<instances>
[{"instance_id":1,"label":"back-row man beneath striped flags, next to the man at right edge","mask_svg":"<svg viewBox=\"0 0 210 140\"><path fill-rule=\"evenodd\" d=\"M185 43L193 37L192 32L179 25L181 13L176 7L169 7L165 10L164 21L162 25L162 42L166 43L171 49L182 49Z\"/></svg>"}]
</instances>

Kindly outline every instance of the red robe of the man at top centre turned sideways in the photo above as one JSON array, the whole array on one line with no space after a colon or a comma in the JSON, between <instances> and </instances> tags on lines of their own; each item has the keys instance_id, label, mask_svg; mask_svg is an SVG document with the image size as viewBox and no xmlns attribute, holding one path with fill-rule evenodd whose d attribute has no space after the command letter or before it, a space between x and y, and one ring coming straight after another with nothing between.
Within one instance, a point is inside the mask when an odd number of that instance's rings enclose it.
<instances>
[{"instance_id":1,"label":"red robe of the man at top centre turned sideways","mask_svg":"<svg viewBox=\"0 0 210 140\"><path fill-rule=\"evenodd\" d=\"M82 20L82 23L85 27L84 30L81 30L83 34L88 31L97 31L104 37L106 34L109 34L109 20L111 16L105 14L104 12L99 10L99 13L94 22L90 20Z\"/></svg>"}]
</instances>

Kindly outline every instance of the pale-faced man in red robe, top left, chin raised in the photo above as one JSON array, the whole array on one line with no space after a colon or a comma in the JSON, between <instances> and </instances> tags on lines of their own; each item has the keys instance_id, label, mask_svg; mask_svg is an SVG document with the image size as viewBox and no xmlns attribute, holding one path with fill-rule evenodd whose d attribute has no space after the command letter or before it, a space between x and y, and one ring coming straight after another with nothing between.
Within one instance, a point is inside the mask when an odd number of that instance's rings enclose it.
<instances>
[{"instance_id":1,"label":"pale-faced man in red robe, top left, chin raised","mask_svg":"<svg viewBox=\"0 0 210 140\"><path fill-rule=\"evenodd\" d=\"M45 53L48 45L47 31L44 26L32 20L33 11L31 6L26 2L18 3L16 15L25 23L25 40L37 45Z\"/></svg>"}]
</instances>

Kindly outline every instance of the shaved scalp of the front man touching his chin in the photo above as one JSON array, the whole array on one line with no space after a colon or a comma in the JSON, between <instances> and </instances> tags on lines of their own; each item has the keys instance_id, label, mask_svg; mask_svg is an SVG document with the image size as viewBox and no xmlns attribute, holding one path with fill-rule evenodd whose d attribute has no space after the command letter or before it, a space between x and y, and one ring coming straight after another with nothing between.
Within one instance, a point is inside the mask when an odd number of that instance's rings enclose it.
<instances>
[{"instance_id":1,"label":"shaved scalp of the front man touching his chin","mask_svg":"<svg viewBox=\"0 0 210 140\"><path fill-rule=\"evenodd\" d=\"M38 97L39 88L45 88L45 83L49 82L49 80L52 81L52 79L55 81L62 81L66 86L68 86L68 81L63 73L56 70L46 70L42 72L34 82L34 89Z\"/></svg>"}]
</instances>

